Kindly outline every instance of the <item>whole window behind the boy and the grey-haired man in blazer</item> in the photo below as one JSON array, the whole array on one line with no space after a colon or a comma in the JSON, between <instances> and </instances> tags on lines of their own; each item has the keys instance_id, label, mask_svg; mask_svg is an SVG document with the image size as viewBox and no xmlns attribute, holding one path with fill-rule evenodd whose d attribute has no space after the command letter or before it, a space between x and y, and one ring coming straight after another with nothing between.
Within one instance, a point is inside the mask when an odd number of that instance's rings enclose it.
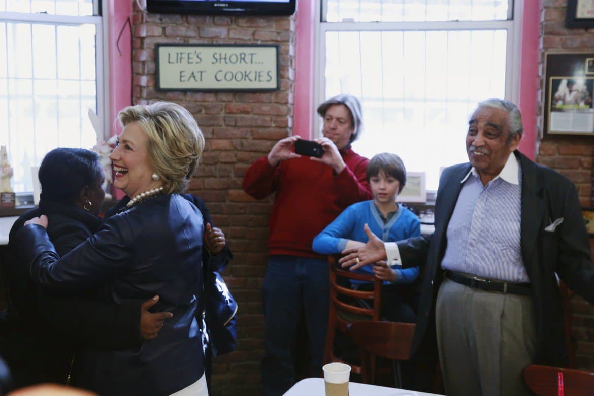
<instances>
[{"instance_id":1,"label":"whole window behind the boy and the grey-haired man in blazer","mask_svg":"<svg viewBox=\"0 0 594 396\"><path fill-rule=\"evenodd\" d=\"M399 154L437 190L440 168L467 161L476 103L516 99L520 20L511 0L323 0L318 103L361 99L365 129L353 144L371 158ZM517 11L516 11L517 12Z\"/></svg>"}]
</instances>

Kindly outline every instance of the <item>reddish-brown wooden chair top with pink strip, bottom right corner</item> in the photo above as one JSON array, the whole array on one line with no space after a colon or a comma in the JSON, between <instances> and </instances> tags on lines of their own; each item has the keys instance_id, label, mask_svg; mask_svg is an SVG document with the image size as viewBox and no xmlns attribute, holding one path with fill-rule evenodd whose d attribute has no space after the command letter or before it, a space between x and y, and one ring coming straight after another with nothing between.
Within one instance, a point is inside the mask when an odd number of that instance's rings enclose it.
<instances>
[{"instance_id":1,"label":"reddish-brown wooden chair top with pink strip, bottom right corner","mask_svg":"<svg viewBox=\"0 0 594 396\"><path fill-rule=\"evenodd\" d=\"M560 376L563 374L563 393L567 396L586 396L594 392L594 373L561 367L529 365L524 368L524 381L536 396L558 396Z\"/></svg>"}]
</instances>

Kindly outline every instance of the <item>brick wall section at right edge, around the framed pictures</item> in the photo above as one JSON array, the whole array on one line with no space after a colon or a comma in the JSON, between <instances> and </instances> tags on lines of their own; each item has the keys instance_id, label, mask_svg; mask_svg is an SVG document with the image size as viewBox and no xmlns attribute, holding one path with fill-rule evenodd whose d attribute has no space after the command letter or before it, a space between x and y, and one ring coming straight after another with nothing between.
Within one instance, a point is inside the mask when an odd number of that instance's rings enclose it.
<instances>
[{"instance_id":1,"label":"brick wall section at right edge, around the framed pictures","mask_svg":"<svg viewBox=\"0 0 594 396\"><path fill-rule=\"evenodd\" d=\"M540 90L538 125L542 132L544 93L544 53L552 51L594 53L593 29L565 28L566 0L543 0L540 37ZM592 155L594 139L591 137L551 137L539 141L537 161L558 170L576 185L582 206L592 204ZM591 242L592 243L592 242ZM594 370L594 308L580 297L571 299L573 310L573 337L576 341L577 366Z\"/></svg>"}]
</instances>

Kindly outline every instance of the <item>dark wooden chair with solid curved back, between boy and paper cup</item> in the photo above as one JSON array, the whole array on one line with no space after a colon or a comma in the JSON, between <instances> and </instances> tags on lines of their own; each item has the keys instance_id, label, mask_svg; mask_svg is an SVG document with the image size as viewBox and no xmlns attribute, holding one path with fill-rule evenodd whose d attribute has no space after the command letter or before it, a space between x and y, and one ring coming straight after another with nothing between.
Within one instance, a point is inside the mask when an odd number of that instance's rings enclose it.
<instances>
[{"instance_id":1,"label":"dark wooden chair with solid curved back, between boy and paper cup","mask_svg":"<svg viewBox=\"0 0 594 396\"><path fill-rule=\"evenodd\" d=\"M367 384L375 382L376 356L385 357L392 362L392 372L396 388L402 388L400 362L409 360L416 325L398 322L353 322L347 334L361 348L361 376Z\"/></svg>"}]
</instances>

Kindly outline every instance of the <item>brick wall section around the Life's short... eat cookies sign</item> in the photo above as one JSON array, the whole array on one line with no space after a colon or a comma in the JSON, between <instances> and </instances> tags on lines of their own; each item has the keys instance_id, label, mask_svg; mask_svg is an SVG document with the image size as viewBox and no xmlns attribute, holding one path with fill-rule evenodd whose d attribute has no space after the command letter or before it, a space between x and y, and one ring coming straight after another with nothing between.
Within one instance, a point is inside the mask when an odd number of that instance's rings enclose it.
<instances>
[{"instance_id":1,"label":"brick wall section around the Life's short... eat cookies sign","mask_svg":"<svg viewBox=\"0 0 594 396\"><path fill-rule=\"evenodd\" d=\"M134 1L132 1L135 3ZM159 92L157 43L271 43L280 45L280 90L267 93ZM215 360L213 395L260 394L263 356L261 284L271 200L256 202L241 189L245 170L290 134L295 74L294 17L132 14L132 97L135 103L170 100L186 107L206 138L192 194L206 201L234 258L224 277L238 300L238 350Z\"/></svg>"}]
</instances>

